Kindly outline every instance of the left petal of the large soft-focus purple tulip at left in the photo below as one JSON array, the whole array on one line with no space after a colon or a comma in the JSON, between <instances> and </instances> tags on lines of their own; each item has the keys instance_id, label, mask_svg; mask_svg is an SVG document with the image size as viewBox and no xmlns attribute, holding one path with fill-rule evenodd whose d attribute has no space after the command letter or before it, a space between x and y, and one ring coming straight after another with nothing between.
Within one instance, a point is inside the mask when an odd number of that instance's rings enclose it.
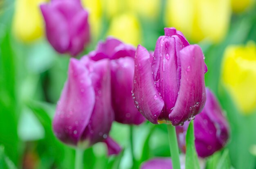
<instances>
[{"instance_id":1,"label":"left petal of the large soft-focus purple tulip at left","mask_svg":"<svg viewBox=\"0 0 256 169\"><path fill-rule=\"evenodd\" d=\"M53 130L61 141L77 145L94 108L95 94L88 71L70 59L68 79L58 101Z\"/></svg>"}]
</instances>

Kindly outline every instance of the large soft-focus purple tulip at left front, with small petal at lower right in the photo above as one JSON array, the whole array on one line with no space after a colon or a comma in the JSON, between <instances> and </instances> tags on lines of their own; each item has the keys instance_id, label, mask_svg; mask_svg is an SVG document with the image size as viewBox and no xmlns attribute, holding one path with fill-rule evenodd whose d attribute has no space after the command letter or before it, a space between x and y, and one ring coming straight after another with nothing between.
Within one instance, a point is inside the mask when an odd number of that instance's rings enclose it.
<instances>
[{"instance_id":1,"label":"large soft-focus purple tulip at left front, with small petal at lower right","mask_svg":"<svg viewBox=\"0 0 256 169\"><path fill-rule=\"evenodd\" d=\"M121 148L108 133L114 120L111 107L110 62L70 60L68 80L58 101L53 130L62 142L87 148L105 142L109 154Z\"/></svg>"}]
</instances>

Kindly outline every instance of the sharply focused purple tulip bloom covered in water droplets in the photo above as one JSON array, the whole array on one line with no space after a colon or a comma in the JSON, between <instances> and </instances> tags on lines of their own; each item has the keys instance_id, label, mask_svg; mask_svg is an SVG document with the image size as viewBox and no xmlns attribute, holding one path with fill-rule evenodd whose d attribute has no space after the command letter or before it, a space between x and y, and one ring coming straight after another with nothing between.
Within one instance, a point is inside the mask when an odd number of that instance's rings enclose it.
<instances>
[{"instance_id":1,"label":"sharply focused purple tulip bloom covered in water droplets","mask_svg":"<svg viewBox=\"0 0 256 169\"><path fill-rule=\"evenodd\" d=\"M133 96L141 114L154 124L182 125L198 114L206 100L207 67L198 45L190 45L180 31L165 28L153 59L138 45Z\"/></svg>"}]
</instances>

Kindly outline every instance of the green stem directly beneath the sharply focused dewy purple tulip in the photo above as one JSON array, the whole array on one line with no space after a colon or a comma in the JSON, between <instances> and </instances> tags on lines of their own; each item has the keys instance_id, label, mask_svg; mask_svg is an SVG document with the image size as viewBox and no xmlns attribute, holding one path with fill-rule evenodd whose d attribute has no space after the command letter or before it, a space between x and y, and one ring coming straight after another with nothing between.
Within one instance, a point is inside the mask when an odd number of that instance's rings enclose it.
<instances>
[{"instance_id":1,"label":"green stem directly beneath the sharply focused dewy purple tulip","mask_svg":"<svg viewBox=\"0 0 256 169\"><path fill-rule=\"evenodd\" d=\"M178 148L175 126L167 125L167 130L173 169L180 169L180 153Z\"/></svg>"}]
</instances>

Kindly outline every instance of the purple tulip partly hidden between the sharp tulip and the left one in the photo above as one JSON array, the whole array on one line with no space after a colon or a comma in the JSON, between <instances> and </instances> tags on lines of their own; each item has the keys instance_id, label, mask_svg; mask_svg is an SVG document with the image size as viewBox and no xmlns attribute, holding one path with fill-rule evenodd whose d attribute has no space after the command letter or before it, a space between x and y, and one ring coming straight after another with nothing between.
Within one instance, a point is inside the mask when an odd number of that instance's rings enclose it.
<instances>
[{"instance_id":1,"label":"purple tulip partly hidden between the sharp tulip and the left one","mask_svg":"<svg viewBox=\"0 0 256 169\"><path fill-rule=\"evenodd\" d=\"M95 61L105 58L110 60L115 120L124 124L139 125L145 118L134 107L131 96L135 51L133 46L109 37L106 42L99 42L97 49L89 53L89 56Z\"/></svg>"}]
</instances>

